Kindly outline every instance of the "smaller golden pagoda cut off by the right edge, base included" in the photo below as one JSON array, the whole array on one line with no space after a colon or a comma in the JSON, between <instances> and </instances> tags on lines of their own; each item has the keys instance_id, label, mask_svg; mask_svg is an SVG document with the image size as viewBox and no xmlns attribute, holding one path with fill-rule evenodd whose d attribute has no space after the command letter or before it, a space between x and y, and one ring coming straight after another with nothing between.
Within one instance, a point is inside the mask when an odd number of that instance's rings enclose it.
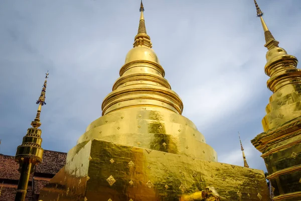
<instances>
[{"instance_id":1,"label":"smaller golden pagoda cut off by the right edge, base included","mask_svg":"<svg viewBox=\"0 0 301 201\"><path fill-rule=\"evenodd\" d=\"M278 47L256 1L266 53L267 87L273 92L262 119L263 133L251 142L262 153L273 200L301 200L301 70L297 58Z\"/></svg>"}]
</instances>

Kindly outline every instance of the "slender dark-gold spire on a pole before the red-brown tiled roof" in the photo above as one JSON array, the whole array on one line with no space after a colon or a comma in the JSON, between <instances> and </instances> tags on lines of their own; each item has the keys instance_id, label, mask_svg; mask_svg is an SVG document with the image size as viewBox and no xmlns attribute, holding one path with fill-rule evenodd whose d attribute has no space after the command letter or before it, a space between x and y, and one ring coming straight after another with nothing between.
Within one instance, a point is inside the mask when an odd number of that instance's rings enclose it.
<instances>
[{"instance_id":1,"label":"slender dark-gold spire on a pole before the red-brown tiled roof","mask_svg":"<svg viewBox=\"0 0 301 201\"><path fill-rule=\"evenodd\" d=\"M36 118L31 123L32 128L29 128L27 130L26 136L23 137L22 144L17 148L15 160L20 164L20 168L19 168L20 179L19 179L16 198L15 198L16 201L25 200L30 173L33 170L34 166L42 161L42 156L43 156L43 149L41 147L42 131L41 129L38 128L41 126L41 122L40 122L41 108L43 105L46 105L45 93L46 93L48 75L49 73L47 71L43 88L41 91L41 95L36 103L39 104L39 107L38 107Z\"/></svg>"}]
</instances>

